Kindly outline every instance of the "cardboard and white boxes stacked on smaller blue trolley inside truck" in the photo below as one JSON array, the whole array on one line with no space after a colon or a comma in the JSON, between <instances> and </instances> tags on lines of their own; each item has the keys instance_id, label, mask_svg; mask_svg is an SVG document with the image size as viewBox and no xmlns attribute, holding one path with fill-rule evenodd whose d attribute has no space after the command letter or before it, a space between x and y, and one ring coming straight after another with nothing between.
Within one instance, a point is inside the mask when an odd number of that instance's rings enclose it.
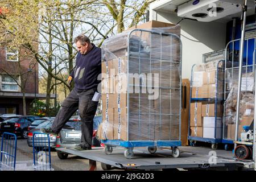
<instances>
[{"instance_id":1,"label":"cardboard and white boxes stacked on smaller blue trolley inside truck","mask_svg":"<svg viewBox=\"0 0 256 182\"><path fill-rule=\"evenodd\" d=\"M223 113L224 74L222 62L213 61L195 65L192 73L191 97L201 101L191 101L191 137L221 138ZM205 101L208 99L208 101ZM217 105L216 105L217 104ZM216 137L214 137L216 130Z\"/></svg>"}]
</instances>

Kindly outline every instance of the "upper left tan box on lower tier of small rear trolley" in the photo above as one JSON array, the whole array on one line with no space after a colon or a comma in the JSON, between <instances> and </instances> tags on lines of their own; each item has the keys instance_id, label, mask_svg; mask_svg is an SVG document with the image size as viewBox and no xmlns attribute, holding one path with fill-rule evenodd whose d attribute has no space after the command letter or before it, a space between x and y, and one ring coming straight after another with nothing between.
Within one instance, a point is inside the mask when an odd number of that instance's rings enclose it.
<instances>
[{"instance_id":1,"label":"upper left tan box on lower tier of small rear trolley","mask_svg":"<svg viewBox=\"0 0 256 182\"><path fill-rule=\"evenodd\" d=\"M202 103L192 102L190 104L190 126L203 126Z\"/></svg>"}]
</instances>

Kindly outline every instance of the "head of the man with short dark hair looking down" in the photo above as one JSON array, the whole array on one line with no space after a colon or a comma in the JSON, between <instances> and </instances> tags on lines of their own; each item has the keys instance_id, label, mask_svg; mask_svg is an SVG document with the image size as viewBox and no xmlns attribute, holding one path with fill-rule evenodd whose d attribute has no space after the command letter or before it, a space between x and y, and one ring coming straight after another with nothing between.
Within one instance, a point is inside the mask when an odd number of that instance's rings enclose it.
<instances>
[{"instance_id":1,"label":"head of the man with short dark hair looking down","mask_svg":"<svg viewBox=\"0 0 256 182\"><path fill-rule=\"evenodd\" d=\"M75 38L75 44L77 50L82 54L85 55L92 49L92 44L90 43L90 39L85 35L79 35Z\"/></svg>"}]
</instances>

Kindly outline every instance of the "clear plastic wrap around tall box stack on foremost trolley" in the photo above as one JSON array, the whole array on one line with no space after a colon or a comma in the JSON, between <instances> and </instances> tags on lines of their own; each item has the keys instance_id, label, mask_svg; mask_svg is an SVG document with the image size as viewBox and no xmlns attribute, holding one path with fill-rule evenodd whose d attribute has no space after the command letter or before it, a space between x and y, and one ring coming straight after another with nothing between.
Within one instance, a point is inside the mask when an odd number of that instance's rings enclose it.
<instances>
[{"instance_id":1,"label":"clear plastic wrap around tall box stack on foremost trolley","mask_svg":"<svg viewBox=\"0 0 256 182\"><path fill-rule=\"evenodd\" d=\"M100 139L179 140L181 42L172 28L126 31L102 44Z\"/></svg>"}]
</instances>

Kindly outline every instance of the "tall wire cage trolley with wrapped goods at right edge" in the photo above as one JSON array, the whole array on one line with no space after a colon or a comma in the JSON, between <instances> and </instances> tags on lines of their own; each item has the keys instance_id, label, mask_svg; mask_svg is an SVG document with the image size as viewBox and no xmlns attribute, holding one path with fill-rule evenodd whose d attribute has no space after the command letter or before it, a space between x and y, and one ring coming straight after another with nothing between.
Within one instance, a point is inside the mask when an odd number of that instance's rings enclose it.
<instances>
[{"instance_id":1,"label":"tall wire cage trolley with wrapped goods at right edge","mask_svg":"<svg viewBox=\"0 0 256 182\"><path fill-rule=\"evenodd\" d=\"M241 39L230 41L227 49L232 49L232 55L240 50ZM254 97L255 97L255 48L256 38L245 39L242 64L242 85L240 99L240 118L238 123L238 140L241 140L243 126L248 126L254 118ZM224 120L223 139L225 150L234 143L236 138L236 102L238 92L238 61L234 59L225 60L225 88L224 88Z\"/></svg>"}]
</instances>

